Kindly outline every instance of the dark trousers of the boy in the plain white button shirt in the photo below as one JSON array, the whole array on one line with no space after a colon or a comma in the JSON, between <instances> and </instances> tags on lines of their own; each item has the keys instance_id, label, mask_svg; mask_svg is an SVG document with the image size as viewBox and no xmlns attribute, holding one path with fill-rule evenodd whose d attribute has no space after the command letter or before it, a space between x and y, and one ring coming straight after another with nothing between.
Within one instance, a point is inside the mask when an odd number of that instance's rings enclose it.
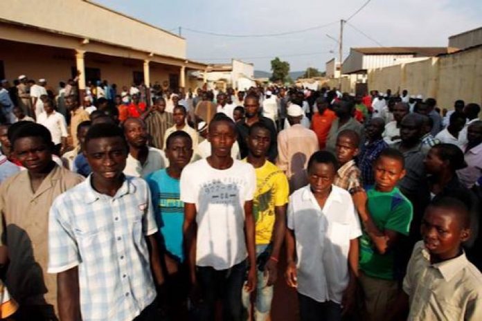
<instances>
[{"instance_id":1,"label":"dark trousers of the boy in the plain white button shirt","mask_svg":"<svg viewBox=\"0 0 482 321\"><path fill-rule=\"evenodd\" d=\"M298 292L301 321L341 321L341 305L332 301L318 302Z\"/></svg>"}]
</instances>

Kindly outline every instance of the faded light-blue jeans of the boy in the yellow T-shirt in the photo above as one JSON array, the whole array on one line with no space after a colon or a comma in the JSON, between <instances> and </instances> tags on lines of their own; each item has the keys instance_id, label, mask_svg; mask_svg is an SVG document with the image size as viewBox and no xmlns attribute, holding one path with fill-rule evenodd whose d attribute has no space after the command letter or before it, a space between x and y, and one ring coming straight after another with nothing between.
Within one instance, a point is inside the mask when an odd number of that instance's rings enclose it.
<instances>
[{"instance_id":1,"label":"faded light-blue jeans of the boy in the yellow T-shirt","mask_svg":"<svg viewBox=\"0 0 482 321\"><path fill-rule=\"evenodd\" d=\"M257 245L256 246L256 256L258 257L261 253L265 252L268 244ZM267 286L268 277L265 272L256 269L258 271L258 283L256 284L256 300L254 303L254 318L256 321L265 321L269 316L269 311L271 310L271 301L273 300L273 286ZM250 293L242 288L242 305L248 315L248 311L251 311L251 300Z\"/></svg>"}]
</instances>

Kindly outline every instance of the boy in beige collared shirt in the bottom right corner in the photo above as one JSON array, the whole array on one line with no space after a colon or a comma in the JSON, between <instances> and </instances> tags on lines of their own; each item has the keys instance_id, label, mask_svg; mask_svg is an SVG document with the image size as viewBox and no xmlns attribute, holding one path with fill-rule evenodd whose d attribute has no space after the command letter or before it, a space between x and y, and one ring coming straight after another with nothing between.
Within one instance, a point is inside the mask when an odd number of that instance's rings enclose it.
<instances>
[{"instance_id":1,"label":"boy in beige collared shirt in the bottom right corner","mask_svg":"<svg viewBox=\"0 0 482 321\"><path fill-rule=\"evenodd\" d=\"M482 274L461 246L471 232L465 204L451 197L434 201L421 232L394 312L409 301L409 320L482 320Z\"/></svg>"}]
</instances>

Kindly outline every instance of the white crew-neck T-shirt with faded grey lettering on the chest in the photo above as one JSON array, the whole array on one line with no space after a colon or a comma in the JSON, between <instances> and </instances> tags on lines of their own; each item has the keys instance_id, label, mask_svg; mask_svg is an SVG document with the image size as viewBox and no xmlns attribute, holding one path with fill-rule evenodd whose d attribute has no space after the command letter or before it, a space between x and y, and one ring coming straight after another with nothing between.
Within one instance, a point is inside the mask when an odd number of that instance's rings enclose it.
<instances>
[{"instance_id":1,"label":"white crew-neck T-shirt with faded grey lettering on the chest","mask_svg":"<svg viewBox=\"0 0 482 321\"><path fill-rule=\"evenodd\" d=\"M206 159L184 168L181 201L197 210L197 266L226 270L246 259L244 203L255 189L253 166L240 160L228 169L215 169Z\"/></svg>"}]
</instances>

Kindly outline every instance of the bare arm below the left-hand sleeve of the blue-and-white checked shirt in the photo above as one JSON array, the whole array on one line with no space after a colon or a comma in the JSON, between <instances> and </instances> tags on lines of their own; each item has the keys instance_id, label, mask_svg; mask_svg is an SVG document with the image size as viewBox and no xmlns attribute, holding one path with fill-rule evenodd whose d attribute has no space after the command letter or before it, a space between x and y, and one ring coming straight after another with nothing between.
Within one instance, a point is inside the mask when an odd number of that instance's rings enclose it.
<instances>
[{"instance_id":1,"label":"bare arm below the left-hand sleeve of the blue-and-white checked shirt","mask_svg":"<svg viewBox=\"0 0 482 321\"><path fill-rule=\"evenodd\" d=\"M79 272L75 266L57 274L57 305L62 321L80 321Z\"/></svg>"}]
</instances>

